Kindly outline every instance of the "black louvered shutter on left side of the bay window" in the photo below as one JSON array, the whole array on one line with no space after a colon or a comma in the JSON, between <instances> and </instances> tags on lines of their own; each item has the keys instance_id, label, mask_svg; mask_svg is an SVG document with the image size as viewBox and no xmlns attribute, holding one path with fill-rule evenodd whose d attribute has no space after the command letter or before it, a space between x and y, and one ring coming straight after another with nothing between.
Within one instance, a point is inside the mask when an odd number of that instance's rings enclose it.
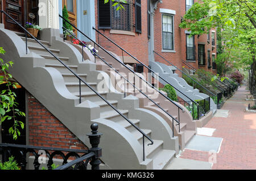
<instances>
[{"instance_id":1,"label":"black louvered shutter on left side of the bay window","mask_svg":"<svg viewBox=\"0 0 256 181\"><path fill-rule=\"evenodd\" d=\"M98 0L98 29L111 28L111 12L110 1L104 3L103 0Z\"/></svg>"}]
</instances>

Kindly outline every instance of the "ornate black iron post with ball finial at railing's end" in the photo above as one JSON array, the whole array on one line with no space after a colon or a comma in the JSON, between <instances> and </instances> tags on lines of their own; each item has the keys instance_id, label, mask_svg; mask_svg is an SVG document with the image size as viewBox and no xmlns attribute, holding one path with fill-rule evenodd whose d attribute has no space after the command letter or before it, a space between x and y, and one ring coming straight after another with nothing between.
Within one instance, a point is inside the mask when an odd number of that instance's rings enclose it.
<instances>
[{"instance_id":1,"label":"ornate black iron post with ball finial at railing's end","mask_svg":"<svg viewBox=\"0 0 256 181\"><path fill-rule=\"evenodd\" d=\"M95 154L92 157L92 161L90 161L90 165L92 165L92 170L100 170L100 157L102 157L102 149L98 148L98 145L100 144L102 133L98 133L97 123L93 123L90 126L90 129L92 129L92 133L86 134L89 137L90 144L92 145L92 148L89 149L89 153L93 152Z\"/></svg>"}]
</instances>

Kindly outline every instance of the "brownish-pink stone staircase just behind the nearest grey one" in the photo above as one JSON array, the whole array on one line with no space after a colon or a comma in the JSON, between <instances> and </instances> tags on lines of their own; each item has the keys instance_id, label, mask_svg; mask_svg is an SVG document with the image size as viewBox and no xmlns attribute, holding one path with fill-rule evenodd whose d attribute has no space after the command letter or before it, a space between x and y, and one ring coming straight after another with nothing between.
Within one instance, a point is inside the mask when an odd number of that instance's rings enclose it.
<instances>
[{"instance_id":1,"label":"brownish-pink stone staircase just behind the nearest grey one","mask_svg":"<svg viewBox=\"0 0 256 181\"><path fill-rule=\"evenodd\" d=\"M82 51L81 46L74 45L80 52ZM117 56L117 54L108 51L112 56L117 58L117 60L121 61L121 58ZM122 64L119 64L117 60L115 60L112 56L110 56L108 53L106 53L104 50L99 49L98 53L103 60L108 62L109 65L113 66L115 70L118 70L119 73L122 74L123 77L129 80L130 83L134 83L133 79L133 73ZM108 73L112 80L112 84L115 86L115 89L121 92L126 92L128 95L134 95L134 87L130 85L130 83L125 82L125 85L123 83L123 79L120 75L115 73L114 70L110 69L108 65L106 65L100 58L92 56L92 53L90 53L88 50L84 49L84 57L89 58L90 61L94 62L96 60L97 64L97 70L105 71ZM133 67L127 65L130 69L133 70ZM143 76L142 74L137 73L139 76ZM122 81L122 84L118 83L118 81ZM146 87L147 92L143 92L148 97L150 97L154 102L158 103L160 107L162 107L166 112L170 113L175 119L178 119L178 109L176 106L174 106L173 103L171 103L168 99L164 98L164 96L160 95L158 92L156 92L154 89L152 89L150 86L146 85L143 81L136 80L135 79L135 86L138 87L141 91L142 85ZM130 86L130 87L129 87ZM125 91L125 87L128 90ZM136 89L135 89L136 90ZM167 95L166 92L162 92L163 94ZM157 96L156 96L157 95ZM151 102L149 99L146 98L143 94L141 94L138 90L136 90L135 96L139 99L139 106L141 108L144 108L146 110L150 110L152 112L157 113L159 116L161 116L164 120L166 120L166 123L169 125L169 127L172 129L172 119L170 116L168 116L167 113L165 113L163 110L161 110L158 106L156 106L153 102ZM179 104L179 103L176 103ZM175 129L174 129L174 135L179 137L179 146L180 149L184 149L185 145L191 138L196 134L196 123L192 120L191 113L188 112L188 110L179 104L180 107L184 109L184 112L180 111L180 123L181 128L179 132L179 127L176 126L176 122L174 123Z\"/></svg>"}]
</instances>

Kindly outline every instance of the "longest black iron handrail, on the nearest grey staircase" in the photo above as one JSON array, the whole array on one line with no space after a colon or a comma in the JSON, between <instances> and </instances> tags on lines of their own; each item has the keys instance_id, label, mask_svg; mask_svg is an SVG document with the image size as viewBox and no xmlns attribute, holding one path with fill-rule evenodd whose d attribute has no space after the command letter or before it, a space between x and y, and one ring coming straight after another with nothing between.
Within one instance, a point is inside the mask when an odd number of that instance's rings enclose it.
<instances>
[{"instance_id":1,"label":"longest black iron handrail, on the nearest grey staircase","mask_svg":"<svg viewBox=\"0 0 256 181\"><path fill-rule=\"evenodd\" d=\"M108 102L108 100L104 99L97 91L95 91L87 82L85 82L79 75L77 75L72 69L70 69L67 65L64 64L63 61L60 60L60 58L58 58L57 56L55 56L55 54L53 54L51 52L51 50L49 50L47 47L45 47L42 43L40 43L40 41L38 39L36 39L33 35L31 35L30 32L28 32L24 27L22 27L18 22L16 22L16 20L14 20L9 14L7 14L5 11L0 10L0 12L3 12L6 16L8 16L11 20L13 20L13 22L15 22L20 28L22 28L22 30L26 33L28 33L28 35L30 35L32 37L32 39L34 39L37 43L39 43L44 49L47 50L47 52L49 52L53 57L56 58L57 61L59 61L62 65L65 66L65 68L67 68L69 71L71 71L72 74L74 74L76 76L77 79L79 79L79 85L80 85L80 102L81 102L81 82L84 83L86 86L89 87L90 90L92 90L95 94L97 94L102 100L104 100L104 102L106 102L110 107L113 108L113 110L115 110L120 116L123 117L123 119L125 119L126 121L128 121L135 129L137 129L137 131L139 131L142 135L143 135L143 139L144 137L146 137L151 144L148 145L152 145L154 144L154 141L151 140L150 137L147 136L146 133L144 133L141 129L139 129L137 127L137 125L135 125L132 121L130 121L129 119L127 119L126 116L124 116L120 111L117 110L117 108L115 108L111 103ZM144 146L144 145L143 145ZM144 149L143 149L143 153L144 153ZM143 158L144 159L144 158Z\"/></svg>"}]
</instances>

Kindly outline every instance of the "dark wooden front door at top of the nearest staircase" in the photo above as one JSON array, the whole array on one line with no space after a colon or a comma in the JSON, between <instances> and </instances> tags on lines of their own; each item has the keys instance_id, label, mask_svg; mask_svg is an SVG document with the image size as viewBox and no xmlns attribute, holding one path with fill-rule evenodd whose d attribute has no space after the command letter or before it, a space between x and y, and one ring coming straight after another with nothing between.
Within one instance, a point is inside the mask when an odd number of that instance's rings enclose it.
<instances>
[{"instance_id":1,"label":"dark wooden front door at top of the nearest staircase","mask_svg":"<svg viewBox=\"0 0 256 181\"><path fill-rule=\"evenodd\" d=\"M2 3L3 10L21 26L24 26L23 0L2 0ZM3 15L3 23L8 30L22 32L21 28L5 15Z\"/></svg>"}]
</instances>

